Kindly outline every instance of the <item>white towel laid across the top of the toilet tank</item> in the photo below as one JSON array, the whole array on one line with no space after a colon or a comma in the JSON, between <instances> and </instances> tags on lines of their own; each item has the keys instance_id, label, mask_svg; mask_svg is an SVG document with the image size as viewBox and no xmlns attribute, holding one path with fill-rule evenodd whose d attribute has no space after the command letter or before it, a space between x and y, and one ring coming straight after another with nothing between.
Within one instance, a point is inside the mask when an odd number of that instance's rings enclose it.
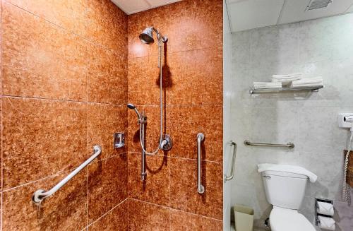
<instances>
[{"instance_id":1,"label":"white towel laid across the top of the toilet tank","mask_svg":"<svg viewBox=\"0 0 353 231\"><path fill-rule=\"evenodd\" d=\"M294 166L294 165L275 165L275 164L260 164L258 165L258 172L264 171L277 171L277 172L290 172L290 173L297 173L303 174L306 177L309 177L311 183L315 183L318 176L306 170L304 167Z\"/></svg>"}]
</instances>

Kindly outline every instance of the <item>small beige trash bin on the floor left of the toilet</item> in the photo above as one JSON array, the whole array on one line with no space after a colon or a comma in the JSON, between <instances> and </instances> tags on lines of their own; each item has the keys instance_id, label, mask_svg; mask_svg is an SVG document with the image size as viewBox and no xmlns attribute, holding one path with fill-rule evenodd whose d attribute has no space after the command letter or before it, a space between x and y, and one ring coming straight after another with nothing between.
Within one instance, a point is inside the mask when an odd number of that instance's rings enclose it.
<instances>
[{"instance_id":1,"label":"small beige trash bin on the floor left of the toilet","mask_svg":"<svg viewBox=\"0 0 353 231\"><path fill-rule=\"evenodd\" d=\"M253 231L253 209L246 206L234 206L235 230Z\"/></svg>"}]
</instances>

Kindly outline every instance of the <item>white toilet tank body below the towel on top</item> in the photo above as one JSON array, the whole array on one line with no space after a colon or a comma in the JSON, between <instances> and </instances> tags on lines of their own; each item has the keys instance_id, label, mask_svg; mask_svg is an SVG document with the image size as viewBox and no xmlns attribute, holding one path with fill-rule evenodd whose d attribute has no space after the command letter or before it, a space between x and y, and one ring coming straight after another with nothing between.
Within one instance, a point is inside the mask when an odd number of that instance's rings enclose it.
<instances>
[{"instance_id":1,"label":"white toilet tank body below the towel on top","mask_svg":"<svg viewBox=\"0 0 353 231\"><path fill-rule=\"evenodd\" d=\"M280 208L299 209L308 177L290 172L261 173L268 203Z\"/></svg>"}]
</instances>

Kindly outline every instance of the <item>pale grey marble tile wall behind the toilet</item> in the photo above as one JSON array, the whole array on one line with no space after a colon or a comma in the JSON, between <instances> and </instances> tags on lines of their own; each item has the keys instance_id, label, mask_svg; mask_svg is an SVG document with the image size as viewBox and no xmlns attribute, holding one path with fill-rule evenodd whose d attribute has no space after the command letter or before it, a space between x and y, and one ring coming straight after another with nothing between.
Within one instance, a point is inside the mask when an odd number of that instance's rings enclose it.
<instances>
[{"instance_id":1,"label":"pale grey marble tile wall behind the toilet","mask_svg":"<svg viewBox=\"0 0 353 231\"><path fill-rule=\"evenodd\" d=\"M301 212L313 222L315 197L335 201L337 230L352 230L352 206L341 202L343 150L348 131L337 113L353 112L353 14L237 32L232 35L232 138L238 143L232 203L252 206L256 225L271 207L256 165L300 165L318 175ZM276 73L322 76L317 93L250 95L253 81ZM245 147L244 140L293 142L293 150Z\"/></svg>"}]
</instances>

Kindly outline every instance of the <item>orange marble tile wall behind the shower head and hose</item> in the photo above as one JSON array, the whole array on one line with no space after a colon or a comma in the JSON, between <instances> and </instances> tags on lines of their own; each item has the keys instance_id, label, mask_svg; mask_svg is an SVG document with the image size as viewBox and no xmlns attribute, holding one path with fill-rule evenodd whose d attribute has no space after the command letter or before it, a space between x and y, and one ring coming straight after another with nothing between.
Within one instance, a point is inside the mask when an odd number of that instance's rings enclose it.
<instances>
[{"instance_id":1,"label":"orange marble tile wall behind the shower head and hose","mask_svg":"<svg viewBox=\"0 0 353 231\"><path fill-rule=\"evenodd\" d=\"M164 49L164 133L174 146L147 157L140 181L136 114L128 112L130 230L222 230L222 1L186 0L128 16L128 102L148 117L146 146L159 134L157 45L138 35L155 26ZM196 135L203 143L205 194L196 191Z\"/></svg>"}]
</instances>

